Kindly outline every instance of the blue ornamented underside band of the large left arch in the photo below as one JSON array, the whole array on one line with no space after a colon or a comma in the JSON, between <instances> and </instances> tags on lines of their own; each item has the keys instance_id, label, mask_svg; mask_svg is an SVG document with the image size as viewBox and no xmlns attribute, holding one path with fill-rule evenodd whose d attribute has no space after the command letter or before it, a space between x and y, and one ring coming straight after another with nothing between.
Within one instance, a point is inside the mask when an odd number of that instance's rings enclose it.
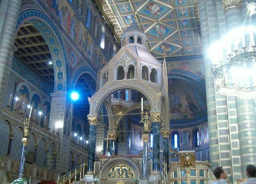
<instances>
[{"instance_id":1,"label":"blue ornamented underside band of the large left arch","mask_svg":"<svg viewBox=\"0 0 256 184\"><path fill-rule=\"evenodd\" d=\"M68 59L64 42L57 27L43 12L28 9L20 14L18 18L16 34L24 22L29 22L35 26L40 31L40 33L42 33L42 36L47 42L52 55L52 63L54 69L54 92L66 92L69 87L69 83L67 81L69 76L69 71L67 70ZM58 74L61 77L57 77Z\"/></svg>"}]
</instances>

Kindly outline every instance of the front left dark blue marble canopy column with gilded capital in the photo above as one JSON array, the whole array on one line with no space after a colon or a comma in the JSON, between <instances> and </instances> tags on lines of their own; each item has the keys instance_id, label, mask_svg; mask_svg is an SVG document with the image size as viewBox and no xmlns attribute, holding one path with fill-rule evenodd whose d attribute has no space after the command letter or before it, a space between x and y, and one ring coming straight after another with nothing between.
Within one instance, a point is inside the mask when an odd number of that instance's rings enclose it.
<instances>
[{"instance_id":1,"label":"front left dark blue marble canopy column with gilded capital","mask_svg":"<svg viewBox=\"0 0 256 184\"><path fill-rule=\"evenodd\" d=\"M89 153L88 153L88 171L87 175L93 174L93 165L95 160L95 150L96 150L96 132L97 124L99 123L98 116L87 116L90 124L89 133Z\"/></svg>"}]
</instances>

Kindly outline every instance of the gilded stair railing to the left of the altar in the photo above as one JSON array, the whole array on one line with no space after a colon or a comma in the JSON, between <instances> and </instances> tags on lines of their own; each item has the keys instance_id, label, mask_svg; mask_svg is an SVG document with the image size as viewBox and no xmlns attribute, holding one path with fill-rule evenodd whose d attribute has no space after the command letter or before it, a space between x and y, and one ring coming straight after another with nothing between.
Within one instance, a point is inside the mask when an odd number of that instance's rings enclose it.
<instances>
[{"instance_id":1,"label":"gilded stair railing to the left of the altar","mask_svg":"<svg viewBox=\"0 0 256 184\"><path fill-rule=\"evenodd\" d=\"M72 171L69 171L67 174L65 174L61 178L60 178L60 175L59 175L58 180L56 180L55 182L57 184L70 184L71 180L73 178L75 178L75 182L76 182L76 178L77 178L78 174L80 174L80 178L84 177L84 172L85 172L84 169L85 169L86 165L87 164L81 164L80 166L76 167Z\"/></svg>"}]
</instances>

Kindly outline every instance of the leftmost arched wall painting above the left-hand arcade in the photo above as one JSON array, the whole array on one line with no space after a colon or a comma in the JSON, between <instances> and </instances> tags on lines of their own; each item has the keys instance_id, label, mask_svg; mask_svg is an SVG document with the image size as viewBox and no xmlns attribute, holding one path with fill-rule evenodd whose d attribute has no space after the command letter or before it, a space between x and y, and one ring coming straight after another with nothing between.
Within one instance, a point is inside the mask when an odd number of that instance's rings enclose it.
<instances>
[{"instance_id":1,"label":"leftmost arched wall painting above the left-hand arcade","mask_svg":"<svg viewBox=\"0 0 256 184\"><path fill-rule=\"evenodd\" d=\"M25 85L22 85L16 95L17 95L16 97L18 98L16 100L14 111L19 115L23 115L29 103L28 88Z\"/></svg>"}]
</instances>

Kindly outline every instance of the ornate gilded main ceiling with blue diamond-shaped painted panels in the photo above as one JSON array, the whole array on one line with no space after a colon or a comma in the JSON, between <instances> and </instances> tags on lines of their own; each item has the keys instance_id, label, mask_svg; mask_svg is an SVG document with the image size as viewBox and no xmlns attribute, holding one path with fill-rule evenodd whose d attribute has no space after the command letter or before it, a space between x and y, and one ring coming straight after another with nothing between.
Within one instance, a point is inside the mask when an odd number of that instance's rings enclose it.
<instances>
[{"instance_id":1,"label":"ornate gilded main ceiling with blue diamond-shaped painted panels","mask_svg":"<svg viewBox=\"0 0 256 184\"><path fill-rule=\"evenodd\" d=\"M197 0L97 0L100 10L120 36L135 18L155 57L201 54Z\"/></svg>"}]
</instances>

